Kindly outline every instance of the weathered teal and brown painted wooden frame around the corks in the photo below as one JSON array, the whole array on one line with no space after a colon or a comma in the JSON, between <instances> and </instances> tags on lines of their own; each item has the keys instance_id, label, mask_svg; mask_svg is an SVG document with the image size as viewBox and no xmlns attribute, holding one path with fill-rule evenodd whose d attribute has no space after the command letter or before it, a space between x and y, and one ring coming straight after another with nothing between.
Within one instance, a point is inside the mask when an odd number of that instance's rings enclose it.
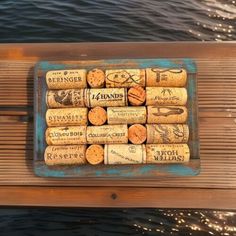
<instances>
[{"instance_id":1,"label":"weathered teal and brown painted wooden frame around the corks","mask_svg":"<svg viewBox=\"0 0 236 236\"><path fill-rule=\"evenodd\" d=\"M185 68L188 72L188 125L190 138L190 162L186 164L148 164L148 165L82 165L53 166L44 163L46 148L46 72L49 70L85 68ZM193 176L200 172L198 109L197 109L197 68L192 59L112 59L96 61L48 62L41 61L35 66L34 75L34 171L42 177L80 177L80 178L156 178L158 176Z\"/></svg>"}]
</instances>

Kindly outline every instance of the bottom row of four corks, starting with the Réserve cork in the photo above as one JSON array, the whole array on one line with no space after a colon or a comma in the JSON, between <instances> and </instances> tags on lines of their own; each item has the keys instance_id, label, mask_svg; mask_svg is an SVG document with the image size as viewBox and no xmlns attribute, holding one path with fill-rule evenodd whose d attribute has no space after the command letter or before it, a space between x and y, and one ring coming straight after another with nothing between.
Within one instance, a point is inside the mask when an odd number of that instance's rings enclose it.
<instances>
[{"instance_id":1,"label":"bottom row of four corks, starting with the R\u00e9serve cork","mask_svg":"<svg viewBox=\"0 0 236 236\"><path fill-rule=\"evenodd\" d=\"M47 146L47 165L158 164L188 162L187 144L99 144Z\"/></svg>"}]
</instances>

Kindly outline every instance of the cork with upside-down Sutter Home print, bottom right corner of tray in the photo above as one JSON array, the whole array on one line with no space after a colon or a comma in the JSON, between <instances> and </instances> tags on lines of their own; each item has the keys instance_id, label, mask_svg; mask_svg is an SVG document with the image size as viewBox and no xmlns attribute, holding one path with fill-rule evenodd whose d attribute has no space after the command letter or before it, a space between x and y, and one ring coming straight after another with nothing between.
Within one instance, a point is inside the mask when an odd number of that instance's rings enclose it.
<instances>
[{"instance_id":1,"label":"cork with upside-down Sutter Home print, bottom right corner of tray","mask_svg":"<svg viewBox=\"0 0 236 236\"><path fill-rule=\"evenodd\" d=\"M147 163L188 162L190 150L187 144L147 144Z\"/></svg>"}]
</instances>

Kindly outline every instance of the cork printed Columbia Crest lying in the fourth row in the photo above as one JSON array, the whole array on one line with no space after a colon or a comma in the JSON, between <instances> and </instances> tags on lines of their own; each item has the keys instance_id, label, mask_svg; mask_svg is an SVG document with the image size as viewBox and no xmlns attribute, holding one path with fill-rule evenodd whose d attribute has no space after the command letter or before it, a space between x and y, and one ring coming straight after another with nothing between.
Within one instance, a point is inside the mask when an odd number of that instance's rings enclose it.
<instances>
[{"instance_id":1,"label":"cork printed Columbia Crest lying in the fourth row","mask_svg":"<svg viewBox=\"0 0 236 236\"><path fill-rule=\"evenodd\" d=\"M87 127L88 144L128 143L127 125L102 125Z\"/></svg>"}]
</instances>

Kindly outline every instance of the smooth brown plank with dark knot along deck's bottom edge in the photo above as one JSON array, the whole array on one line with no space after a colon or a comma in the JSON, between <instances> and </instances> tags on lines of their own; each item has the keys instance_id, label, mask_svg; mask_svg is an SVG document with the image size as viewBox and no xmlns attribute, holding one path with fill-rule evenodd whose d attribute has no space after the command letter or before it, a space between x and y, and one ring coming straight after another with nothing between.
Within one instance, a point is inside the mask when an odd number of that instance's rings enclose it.
<instances>
[{"instance_id":1,"label":"smooth brown plank with dark knot along deck's bottom edge","mask_svg":"<svg viewBox=\"0 0 236 236\"><path fill-rule=\"evenodd\" d=\"M3 206L50 207L155 207L155 208L219 208L227 197L224 209L235 210L236 190L188 189L180 194L178 188L123 188L118 187L2 187ZM19 198L19 196L21 196ZM47 196L47 197L45 197ZM56 197L55 196L60 196ZM94 197L88 197L94 196ZM186 201L192 199L192 201Z\"/></svg>"}]
</instances>

